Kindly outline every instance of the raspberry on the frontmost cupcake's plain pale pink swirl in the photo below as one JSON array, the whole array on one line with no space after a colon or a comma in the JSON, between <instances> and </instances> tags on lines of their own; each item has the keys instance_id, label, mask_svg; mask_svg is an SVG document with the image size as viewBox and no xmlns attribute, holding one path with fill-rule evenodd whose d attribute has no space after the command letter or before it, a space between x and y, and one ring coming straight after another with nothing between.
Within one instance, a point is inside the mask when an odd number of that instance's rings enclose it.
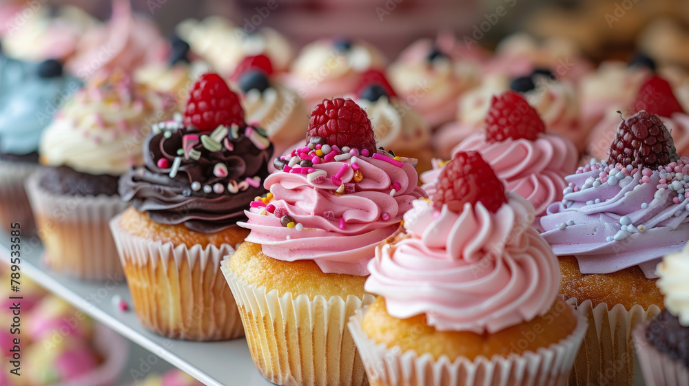
<instances>
[{"instance_id":1,"label":"raspberry on the frontmost cupcake's plain pale pink swirl","mask_svg":"<svg viewBox=\"0 0 689 386\"><path fill-rule=\"evenodd\" d=\"M477 151L456 153L440 172L437 189L435 206L446 204L455 213L462 213L467 202L481 202L493 213L507 202L504 184Z\"/></svg>"}]
</instances>

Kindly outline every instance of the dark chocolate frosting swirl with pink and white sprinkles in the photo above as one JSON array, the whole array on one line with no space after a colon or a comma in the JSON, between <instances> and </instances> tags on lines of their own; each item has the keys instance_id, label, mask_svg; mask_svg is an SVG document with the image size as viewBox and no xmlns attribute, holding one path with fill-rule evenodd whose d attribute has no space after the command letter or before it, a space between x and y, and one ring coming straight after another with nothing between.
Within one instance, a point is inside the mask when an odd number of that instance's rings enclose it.
<instances>
[{"instance_id":1,"label":"dark chocolate frosting swirl with pink and white sprinkles","mask_svg":"<svg viewBox=\"0 0 689 386\"><path fill-rule=\"evenodd\" d=\"M244 209L267 193L273 144L260 129L198 131L173 120L154 126L145 143L145 165L123 175L119 193L154 222L214 233L246 221Z\"/></svg>"}]
</instances>

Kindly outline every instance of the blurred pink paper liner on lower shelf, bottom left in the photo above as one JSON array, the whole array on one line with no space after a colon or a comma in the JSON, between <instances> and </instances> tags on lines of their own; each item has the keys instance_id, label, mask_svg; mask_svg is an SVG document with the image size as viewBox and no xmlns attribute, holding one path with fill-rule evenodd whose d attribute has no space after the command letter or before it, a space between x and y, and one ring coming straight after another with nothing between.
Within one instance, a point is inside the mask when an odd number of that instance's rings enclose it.
<instances>
[{"instance_id":1,"label":"blurred pink paper liner on lower shelf, bottom left","mask_svg":"<svg viewBox=\"0 0 689 386\"><path fill-rule=\"evenodd\" d=\"M122 370L127 364L129 343L121 335L102 324L96 324L93 341L94 349L103 358L103 363L88 372L53 386L112 386L116 385Z\"/></svg>"}]
</instances>

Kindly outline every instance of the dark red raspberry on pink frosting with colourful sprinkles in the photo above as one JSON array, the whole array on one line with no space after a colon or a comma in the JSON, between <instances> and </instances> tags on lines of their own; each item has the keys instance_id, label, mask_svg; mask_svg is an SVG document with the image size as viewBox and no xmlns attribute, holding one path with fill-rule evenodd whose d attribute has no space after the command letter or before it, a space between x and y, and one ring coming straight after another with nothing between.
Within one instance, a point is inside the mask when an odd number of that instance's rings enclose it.
<instances>
[{"instance_id":1,"label":"dark red raspberry on pink frosting with colourful sprinkles","mask_svg":"<svg viewBox=\"0 0 689 386\"><path fill-rule=\"evenodd\" d=\"M322 137L330 146L337 145L350 149L367 149L376 152L376 139L373 138L371 120L366 111L353 100L344 98L324 99L313 107L309 120L306 140Z\"/></svg>"}]
</instances>

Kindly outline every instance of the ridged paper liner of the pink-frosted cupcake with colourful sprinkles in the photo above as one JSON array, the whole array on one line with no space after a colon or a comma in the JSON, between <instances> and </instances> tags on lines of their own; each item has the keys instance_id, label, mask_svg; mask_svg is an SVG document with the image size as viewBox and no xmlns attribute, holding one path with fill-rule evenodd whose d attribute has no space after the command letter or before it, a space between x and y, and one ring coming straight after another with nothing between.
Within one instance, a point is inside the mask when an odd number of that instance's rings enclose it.
<instances>
[{"instance_id":1,"label":"ridged paper liner of the pink-frosted cupcake with colourful sprinkles","mask_svg":"<svg viewBox=\"0 0 689 386\"><path fill-rule=\"evenodd\" d=\"M373 303L363 299L291 292L278 296L240 279L229 269L229 256L222 264L242 316L251 359L263 376L280 386L368 385L347 320L355 310Z\"/></svg>"}]
</instances>

